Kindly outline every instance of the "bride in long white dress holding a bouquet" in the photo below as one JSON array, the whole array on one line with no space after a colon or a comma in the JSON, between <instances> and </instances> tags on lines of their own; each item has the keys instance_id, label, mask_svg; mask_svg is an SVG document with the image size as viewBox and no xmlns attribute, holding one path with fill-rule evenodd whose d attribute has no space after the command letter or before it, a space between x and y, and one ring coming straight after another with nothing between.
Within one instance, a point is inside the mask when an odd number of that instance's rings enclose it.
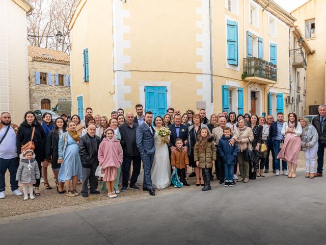
<instances>
[{"instance_id":1,"label":"bride in long white dress holding a bouquet","mask_svg":"<svg viewBox=\"0 0 326 245\"><path fill-rule=\"evenodd\" d=\"M151 178L153 187L156 189L164 189L171 184L171 165L169 159L169 149L166 143L162 142L161 136L157 134L157 130L163 125L163 119L160 116L155 117L154 126L154 145L155 145L155 155L153 160L153 165L151 169ZM167 141L170 141L167 139ZM144 170L138 176L138 184L143 185L144 180Z\"/></svg>"}]
</instances>

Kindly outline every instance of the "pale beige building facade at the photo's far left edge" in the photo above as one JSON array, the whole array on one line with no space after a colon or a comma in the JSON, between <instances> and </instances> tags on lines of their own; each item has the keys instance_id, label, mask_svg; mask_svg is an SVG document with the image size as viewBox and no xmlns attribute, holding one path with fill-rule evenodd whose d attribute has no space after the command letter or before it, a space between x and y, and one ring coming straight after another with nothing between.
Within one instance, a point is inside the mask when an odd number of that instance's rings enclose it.
<instances>
[{"instance_id":1,"label":"pale beige building facade at the photo's far left edge","mask_svg":"<svg viewBox=\"0 0 326 245\"><path fill-rule=\"evenodd\" d=\"M26 14L32 9L24 0L0 1L0 112L17 124L30 109Z\"/></svg>"}]
</instances>

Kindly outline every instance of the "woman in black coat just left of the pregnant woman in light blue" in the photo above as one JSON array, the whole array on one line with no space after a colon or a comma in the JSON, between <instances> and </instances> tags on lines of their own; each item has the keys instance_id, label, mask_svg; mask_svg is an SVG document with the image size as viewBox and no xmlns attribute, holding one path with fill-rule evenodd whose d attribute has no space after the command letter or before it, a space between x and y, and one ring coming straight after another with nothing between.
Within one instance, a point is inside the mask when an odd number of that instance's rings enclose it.
<instances>
[{"instance_id":1,"label":"woman in black coat just left of the pregnant woman in light blue","mask_svg":"<svg viewBox=\"0 0 326 245\"><path fill-rule=\"evenodd\" d=\"M51 163L53 175L56 178L57 191L60 194L65 193L63 190L64 182L59 183L59 170L61 164L58 163L58 145L60 136L66 132L67 123L62 117L58 117L55 121L55 128L51 130L46 138L45 144L45 160Z\"/></svg>"}]
</instances>

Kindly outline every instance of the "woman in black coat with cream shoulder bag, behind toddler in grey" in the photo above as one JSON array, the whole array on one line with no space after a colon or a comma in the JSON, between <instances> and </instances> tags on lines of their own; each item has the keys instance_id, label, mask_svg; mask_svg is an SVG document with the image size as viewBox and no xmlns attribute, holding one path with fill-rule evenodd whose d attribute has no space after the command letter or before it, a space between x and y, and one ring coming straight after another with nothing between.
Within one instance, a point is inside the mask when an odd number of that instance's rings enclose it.
<instances>
[{"instance_id":1,"label":"woman in black coat with cream shoulder bag, behind toddler in grey","mask_svg":"<svg viewBox=\"0 0 326 245\"><path fill-rule=\"evenodd\" d=\"M45 133L42 126L36 120L35 114L33 111L28 111L24 115L24 120L18 128L17 132L17 153L20 154L21 146L25 143L31 141L33 127L35 127L33 142L35 145L34 153L36 155L35 160L40 169L42 170L41 162L45 159ZM40 179L36 180L35 186L35 195L39 196L40 191Z\"/></svg>"}]
</instances>

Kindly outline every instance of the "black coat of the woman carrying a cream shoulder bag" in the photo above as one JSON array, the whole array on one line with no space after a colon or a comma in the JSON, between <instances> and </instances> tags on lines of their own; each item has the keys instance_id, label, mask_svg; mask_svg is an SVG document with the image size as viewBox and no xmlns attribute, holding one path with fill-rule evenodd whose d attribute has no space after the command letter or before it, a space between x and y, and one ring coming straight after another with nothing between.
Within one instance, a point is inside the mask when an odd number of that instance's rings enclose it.
<instances>
[{"instance_id":1,"label":"black coat of the woman carrying a cream shoulder bag","mask_svg":"<svg viewBox=\"0 0 326 245\"><path fill-rule=\"evenodd\" d=\"M17 153L18 155L21 153L21 146L25 143L29 142L32 138L33 127L35 126L34 138L33 142L35 145L34 153L36 155L36 161L38 164L41 164L42 161L45 160L45 142L46 136L44 130L40 124L37 124L35 121L32 126L28 124L26 120L24 120L18 128L17 132Z\"/></svg>"}]
</instances>

